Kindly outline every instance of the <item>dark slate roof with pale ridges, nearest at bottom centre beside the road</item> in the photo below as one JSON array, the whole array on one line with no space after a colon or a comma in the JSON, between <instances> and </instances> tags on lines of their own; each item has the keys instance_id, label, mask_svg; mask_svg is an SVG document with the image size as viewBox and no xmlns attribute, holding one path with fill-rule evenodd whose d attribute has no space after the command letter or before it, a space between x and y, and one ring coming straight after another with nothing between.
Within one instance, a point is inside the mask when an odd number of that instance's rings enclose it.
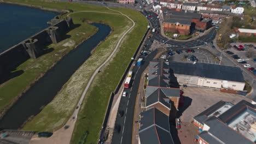
<instances>
[{"instance_id":1,"label":"dark slate roof with pale ridges, nearest at bottom centre beside the road","mask_svg":"<svg viewBox=\"0 0 256 144\"><path fill-rule=\"evenodd\" d=\"M141 112L139 140L147 143L174 144L170 134L169 118L155 107ZM150 139L149 139L150 137Z\"/></svg>"}]
</instances>

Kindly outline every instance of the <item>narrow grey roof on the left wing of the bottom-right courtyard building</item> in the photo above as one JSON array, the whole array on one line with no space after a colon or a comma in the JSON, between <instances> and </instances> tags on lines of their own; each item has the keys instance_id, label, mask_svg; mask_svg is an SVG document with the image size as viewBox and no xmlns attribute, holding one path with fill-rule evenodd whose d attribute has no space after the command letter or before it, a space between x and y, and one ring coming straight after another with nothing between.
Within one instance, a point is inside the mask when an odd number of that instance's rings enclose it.
<instances>
[{"instance_id":1,"label":"narrow grey roof on the left wing of the bottom-right courtyard building","mask_svg":"<svg viewBox=\"0 0 256 144\"><path fill-rule=\"evenodd\" d=\"M203 111L203 112L199 113L198 115L196 115L194 117L194 119L197 122L203 124L203 122L205 122L208 119L209 115L211 115L214 111L218 110L220 107L222 107L226 103L228 103L228 102L226 102L226 101L218 101L216 104L212 105L211 107L209 107L205 111Z\"/></svg>"}]
</instances>

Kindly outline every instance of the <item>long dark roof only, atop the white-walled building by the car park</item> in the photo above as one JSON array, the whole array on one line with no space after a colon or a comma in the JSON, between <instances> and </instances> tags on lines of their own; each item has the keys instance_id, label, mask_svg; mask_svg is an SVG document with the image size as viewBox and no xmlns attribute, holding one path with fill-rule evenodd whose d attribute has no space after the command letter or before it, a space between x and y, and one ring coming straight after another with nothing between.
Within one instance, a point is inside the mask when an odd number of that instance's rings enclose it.
<instances>
[{"instance_id":1,"label":"long dark roof only, atop the white-walled building by the car park","mask_svg":"<svg viewBox=\"0 0 256 144\"><path fill-rule=\"evenodd\" d=\"M174 74L191 75L235 82L245 82L242 71L238 67L207 63L178 63L169 62L170 71Z\"/></svg>"}]
</instances>

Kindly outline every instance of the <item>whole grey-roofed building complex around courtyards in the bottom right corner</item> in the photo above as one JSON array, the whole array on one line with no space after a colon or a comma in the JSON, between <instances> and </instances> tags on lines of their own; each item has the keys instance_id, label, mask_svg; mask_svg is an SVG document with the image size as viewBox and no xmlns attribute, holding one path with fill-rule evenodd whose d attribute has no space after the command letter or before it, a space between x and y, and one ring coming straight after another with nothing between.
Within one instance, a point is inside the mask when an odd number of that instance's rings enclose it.
<instances>
[{"instance_id":1,"label":"whole grey-roofed building complex around courtyards in the bottom right corner","mask_svg":"<svg viewBox=\"0 0 256 144\"><path fill-rule=\"evenodd\" d=\"M200 143L256 142L256 106L246 100L236 105L219 101L194 117Z\"/></svg>"}]
</instances>

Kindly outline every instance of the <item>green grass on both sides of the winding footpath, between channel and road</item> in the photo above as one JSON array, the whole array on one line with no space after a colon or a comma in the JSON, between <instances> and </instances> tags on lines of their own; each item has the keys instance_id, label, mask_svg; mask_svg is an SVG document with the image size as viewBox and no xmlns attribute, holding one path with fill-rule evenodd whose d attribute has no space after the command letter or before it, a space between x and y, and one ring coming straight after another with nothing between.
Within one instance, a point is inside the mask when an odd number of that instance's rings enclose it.
<instances>
[{"instance_id":1,"label":"green grass on both sides of the winding footpath, between channel and road","mask_svg":"<svg viewBox=\"0 0 256 144\"><path fill-rule=\"evenodd\" d=\"M18 1L10 0L11 2L22 2L32 5L42 5L45 8L56 9L72 9L73 11L104 11L108 13L116 13L104 7L96 5L84 5L77 3L59 3L59 2L44 2L44 1ZM71 143L78 143L85 131L89 131L86 143L96 143L98 134L102 127L102 122L110 93L117 87L131 57L134 55L139 43L147 30L147 19L138 11L112 8L119 10L128 15L136 22L136 26L126 35L123 43L111 61L103 68L94 82L92 82L88 93L85 96L83 105L78 115L78 120L75 125ZM118 13L117 13L118 14ZM56 95L50 104L45 106L42 112L28 122L24 130L55 130L60 128L75 108L77 100L83 92L83 89L88 82L93 71L103 63L117 44L121 33L125 32L131 25L126 17L121 15L100 14L100 13L76 13L71 15L74 17L85 18L92 22L103 22L112 27L113 32L103 41L94 51L92 56L75 72L71 79L63 86L61 91Z\"/></svg>"}]
</instances>

